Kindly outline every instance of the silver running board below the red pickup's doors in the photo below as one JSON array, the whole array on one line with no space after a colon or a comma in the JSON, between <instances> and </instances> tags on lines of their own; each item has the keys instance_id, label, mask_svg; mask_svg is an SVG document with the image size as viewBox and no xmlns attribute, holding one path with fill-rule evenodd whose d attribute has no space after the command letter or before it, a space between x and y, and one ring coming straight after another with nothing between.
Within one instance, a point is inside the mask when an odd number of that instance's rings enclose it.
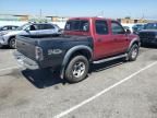
<instances>
[{"instance_id":1,"label":"silver running board below the red pickup's doors","mask_svg":"<svg viewBox=\"0 0 157 118\"><path fill-rule=\"evenodd\" d=\"M97 63L107 62L107 61L111 61L111 60L116 60L116 59L120 59L120 58L124 58L124 57L128 57L128 55L124 54L124 55L120 55L120 56L116 56L116 57L111 57L111 58L106 58L106 59L101 59L98 61L94 61L93 63L97 64Z\"/></svg>"}]
</instances>

